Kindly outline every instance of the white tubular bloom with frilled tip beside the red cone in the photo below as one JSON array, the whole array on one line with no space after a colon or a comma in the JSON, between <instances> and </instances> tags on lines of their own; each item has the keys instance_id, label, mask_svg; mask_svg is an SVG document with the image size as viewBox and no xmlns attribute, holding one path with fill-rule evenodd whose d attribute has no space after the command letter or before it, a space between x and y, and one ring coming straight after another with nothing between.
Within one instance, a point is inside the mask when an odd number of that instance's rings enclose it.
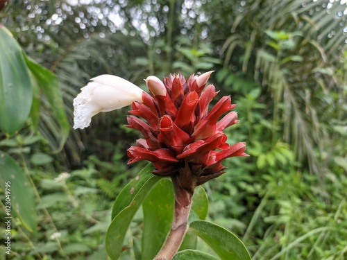
<instances>
[{"instance_id":1,"label":"white tubular bloom with frilled tip beside the red cone","mask_svg":"<svg viewBox=\"0 0 347 260\"><path fill-rule=\"evenodd\" d=\"M91 79L74 99L74 129L86 128L92 116L142 102L142 89L124 78L101 75Z\"/></svg>"}]
</instances>

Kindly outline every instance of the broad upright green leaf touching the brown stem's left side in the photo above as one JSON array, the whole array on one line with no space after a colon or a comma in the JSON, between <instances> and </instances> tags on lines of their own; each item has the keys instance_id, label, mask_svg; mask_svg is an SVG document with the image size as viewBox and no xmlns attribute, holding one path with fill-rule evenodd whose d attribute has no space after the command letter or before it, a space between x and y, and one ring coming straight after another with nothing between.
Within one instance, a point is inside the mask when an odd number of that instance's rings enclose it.
<instances>
[{"instance_id":1,"label":"broad upright green leaf touching the brown stem's left side","mask_svg":"<svg viewBox=\"0 0 347 260\"><path fill-rule=\"evenodd\" d=\"M169 179L158 182L142 205L142 259L153 259L162 248L174 219L174 189Z\"/></svg>"}]
</instances>

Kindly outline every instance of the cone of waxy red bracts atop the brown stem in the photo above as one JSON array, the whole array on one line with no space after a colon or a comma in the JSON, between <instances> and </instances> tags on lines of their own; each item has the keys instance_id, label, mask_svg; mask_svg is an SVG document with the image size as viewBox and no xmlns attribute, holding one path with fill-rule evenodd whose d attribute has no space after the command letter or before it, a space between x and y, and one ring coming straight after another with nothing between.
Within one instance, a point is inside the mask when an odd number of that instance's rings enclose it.
<instances>
[{"instance_id":1,"label":"cone of waxy red bracts atop the brown stem","mask_svg":"<svg viewBox=\"0 0 347 260\"><path fill-rule=\"evenodd\" d=\"M189 169L200 185L223 173L223 159L248 156L245 143L229 146L223 134L239 122L237 113L230 111L236 107L230 96L223 96L208 110L218 94L213 85L205 87L211 73L192 75L187 80L181 74L163 81L155 76L146 79L151 95L143 92L143 103L134 101L130 110L135 116L128 116L128 128L144 136L128 149L129 164L148 160L155 166L153 173L161 176Z\"/></svg>"}]
</instances>

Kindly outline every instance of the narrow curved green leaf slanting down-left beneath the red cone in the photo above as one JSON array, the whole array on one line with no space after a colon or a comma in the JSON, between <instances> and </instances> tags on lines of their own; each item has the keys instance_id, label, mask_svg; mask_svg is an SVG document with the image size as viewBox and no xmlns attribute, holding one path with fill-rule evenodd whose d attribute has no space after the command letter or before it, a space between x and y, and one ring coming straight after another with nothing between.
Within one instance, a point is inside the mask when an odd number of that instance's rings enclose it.
<instances>
[{"instance_id":1,"label":"narrow curved green leaf slanting down-left beneath the red cone","mask_svg":"<svg viewBox=\"0 0 347 260\"><path fill-rule=\"evenodd\" d=\"M118 259L126 230L133 219L137 209L151 191L154 184L161 179L151 173L152 164L148 164L134 180L124 187L115 201L112 209L112 223L106 234L106 250L112 259Z\"/></svg>"}]
</instances>

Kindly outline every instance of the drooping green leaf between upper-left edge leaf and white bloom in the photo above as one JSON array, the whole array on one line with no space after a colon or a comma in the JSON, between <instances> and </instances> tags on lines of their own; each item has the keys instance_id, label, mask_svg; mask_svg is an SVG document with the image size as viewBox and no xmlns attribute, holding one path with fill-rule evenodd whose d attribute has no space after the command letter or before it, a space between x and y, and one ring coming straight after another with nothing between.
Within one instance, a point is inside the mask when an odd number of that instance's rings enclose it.
<instances>
[{"instance_id":1,"label":"drooping green leaf between upper-left edge leaf and white bloom","mask_svg":"<svg viewBox=\"0 0 347 260\"><path fill-rule=\"evenodd\" d=\"M67 120L67 114L65 113L64 103L62 101L59 80L53 72L49 71L45 67L42 67L27 55L24 55L24 58L28 68L31 70L31 73L33 73L33 76L40 85L42 92L49 101L49 105L51 105L51 110L53 111L55 119L60 125L61 139L60 147L58 148L58 150L60 150L62 146L64 146L69 135L70 125L69 121Z\"/></svg>"}]
</instances>

